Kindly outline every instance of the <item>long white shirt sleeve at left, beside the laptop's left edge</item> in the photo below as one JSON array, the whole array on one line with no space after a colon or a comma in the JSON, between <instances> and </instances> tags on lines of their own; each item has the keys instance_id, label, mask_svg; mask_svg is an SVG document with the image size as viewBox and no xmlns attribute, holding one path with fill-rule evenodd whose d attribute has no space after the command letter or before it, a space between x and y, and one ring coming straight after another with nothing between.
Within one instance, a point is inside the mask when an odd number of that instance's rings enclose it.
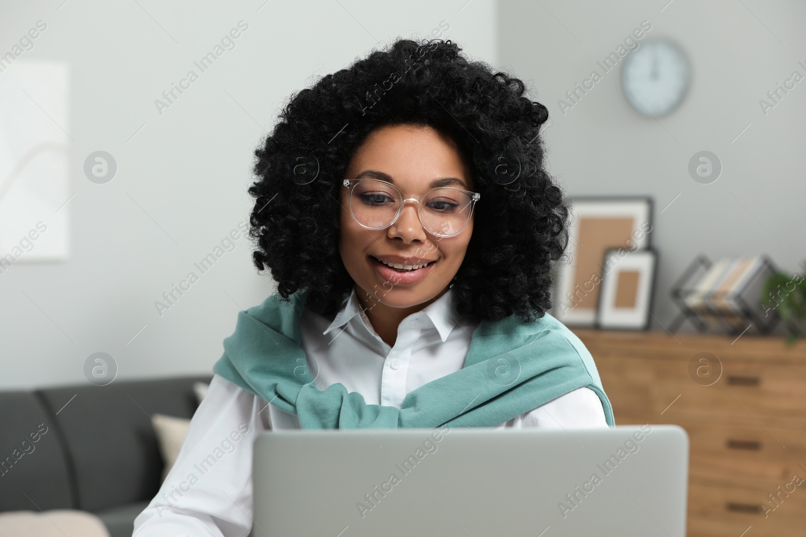
<instances>
[{"instance_id":1,"label":"long white shirt sleeve at left, beside the laptop's left edge","mask_svg":"<svg viewBox=\"0 0 806 537\"><path fill-rule=\"evenodd\" d=\"M135 537L235 537L252 527L252 444L268 403L215 374L177 461L135 518Z\"/></svg>"}]
</instances>

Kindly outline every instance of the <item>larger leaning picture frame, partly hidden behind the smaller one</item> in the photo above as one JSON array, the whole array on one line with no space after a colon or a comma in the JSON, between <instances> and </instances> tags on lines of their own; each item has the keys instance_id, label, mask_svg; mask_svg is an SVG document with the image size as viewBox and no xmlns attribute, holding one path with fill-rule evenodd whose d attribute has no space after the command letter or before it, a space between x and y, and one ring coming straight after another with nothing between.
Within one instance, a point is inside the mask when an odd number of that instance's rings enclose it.
<instances>
[{"instance_id":1,"label":"larger leaning picture frame, partly hidden behind the smaller one","mask_svg":"<svg viewBox=\"0 0 806 537\"><path fill-rule=\"evenodd\" d=\"M570 262L556 266L555 318L568 326L596 325L605 252L650 247L652 205L649 196L571 197Z\"/></svg>"}]
</instances>

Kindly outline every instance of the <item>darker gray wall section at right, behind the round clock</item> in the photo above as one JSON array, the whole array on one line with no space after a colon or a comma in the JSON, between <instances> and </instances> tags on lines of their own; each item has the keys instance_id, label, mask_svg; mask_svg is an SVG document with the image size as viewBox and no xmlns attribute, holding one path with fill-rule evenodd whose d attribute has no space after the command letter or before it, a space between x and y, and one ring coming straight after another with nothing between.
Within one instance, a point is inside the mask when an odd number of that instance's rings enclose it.
<instances>
[{"instance_id":1,"label":"darker gray wall section at right, behind the round clock","mask_svg":"<svg viewBox=\"0 0 806 537\"><path fill-rule=\"evenodd\" d=\"M806 64L806 4L501 0L499 9L498 64L528 80L549 109L550 173L572 196L654 198L652 328L675 317L669 290L696 254L767 254L790 274L802 272L806 81L767 114L759 100L793 71L806 76L798 64ZM642 40L675 39L692 63L688 97L659 121L629 107L620 68L605 74L596 64L644 20L652 28ZM563 114L559 99L592 70L602 80ZM688 160L703 150L724 167L713 184L688 175Z\"/></svg>"}]
</instances>

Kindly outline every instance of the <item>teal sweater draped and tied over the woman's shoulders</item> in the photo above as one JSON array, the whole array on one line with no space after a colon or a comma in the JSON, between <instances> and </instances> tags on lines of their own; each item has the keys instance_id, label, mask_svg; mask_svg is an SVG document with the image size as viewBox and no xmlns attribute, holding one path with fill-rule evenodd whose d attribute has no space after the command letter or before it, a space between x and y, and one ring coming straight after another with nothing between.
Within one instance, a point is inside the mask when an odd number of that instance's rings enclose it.
<instances>
[{"instance_id":1,"label":"teal sweater draped and tied over the woman's shoulders","mask_svg":"<svg viewBox=\"0 0 806 537\"><path fill-rule=\"evenodd\" d=\"M482 320L463 368L410 391L401 408L367 404L340 382L319 390L300 346L306 295L301 289L285 305L272 295L239 312L213 366L214 373L296 415L301 428L496 427L582 387L596 392L608 425L615 424L591 354L549 313L530 324L515 316Z\"/></svg>"}]
</instances>

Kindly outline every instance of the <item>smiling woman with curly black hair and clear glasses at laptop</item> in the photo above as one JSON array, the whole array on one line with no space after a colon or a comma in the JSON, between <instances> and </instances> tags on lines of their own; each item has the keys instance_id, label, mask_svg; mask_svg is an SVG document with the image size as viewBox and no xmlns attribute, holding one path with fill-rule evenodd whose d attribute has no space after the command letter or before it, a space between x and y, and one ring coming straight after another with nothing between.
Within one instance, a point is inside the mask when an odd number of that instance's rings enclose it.
<instances>
[{"instance_id":1,"label":"smiling woman with curly black hair and clear glasses at laptop","mask_svg":"<svg viewBox=\"0 0 806 537\"><path fill-rule=\"evenodd\" d=\"M286 105L249 189L277 294L239 312L135 535L247 535L262 431L613 425L546 312L568 216L546 107L460 50L400 39Z\"/></svg>"}]
</instances>

